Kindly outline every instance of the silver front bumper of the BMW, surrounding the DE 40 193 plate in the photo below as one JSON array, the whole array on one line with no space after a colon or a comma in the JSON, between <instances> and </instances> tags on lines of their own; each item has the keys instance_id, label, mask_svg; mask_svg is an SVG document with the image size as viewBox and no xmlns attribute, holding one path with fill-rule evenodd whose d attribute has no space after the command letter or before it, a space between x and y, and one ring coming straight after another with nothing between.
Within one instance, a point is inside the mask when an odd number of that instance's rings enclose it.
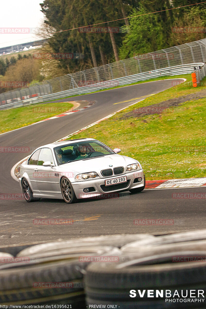
<instances>
[{"instance_id":1,"label":"silver front bumper of the BMW, surrounding the DE 40 193 plate","mask_svg":"<svg viewBox=\"0 0 206 309\"><path fill-rule=\"evenodd\" d=\"M107 179L113 179L113 178L119 178L127 176L127 183L122 183L122 185L111 185L108 187L105 187L105 180ZM142 180L141 182L135 182L137 181L136 178L141 177ZM98 179L90 179L90 180L85 180L85 181L78 181L78 182L73 182L72 187L74 189L74 193L78 199L80 198L90 198L90 197L95 197L95 196L100 196L105 193L111 193L111 192L122 192L122 191L128 191L130 189L134 188L139 188L144 186L144 172L143 169L139 171L133 171L129 173L124 173L116 176L111 176L111 177L104 177L104 178L98 178ZM93 192L88 192L84 193L83 189L84 188L91 188L93 187L95 191ZM108 190L108 191L105 191Z\"/></svg>"}]
</instances>

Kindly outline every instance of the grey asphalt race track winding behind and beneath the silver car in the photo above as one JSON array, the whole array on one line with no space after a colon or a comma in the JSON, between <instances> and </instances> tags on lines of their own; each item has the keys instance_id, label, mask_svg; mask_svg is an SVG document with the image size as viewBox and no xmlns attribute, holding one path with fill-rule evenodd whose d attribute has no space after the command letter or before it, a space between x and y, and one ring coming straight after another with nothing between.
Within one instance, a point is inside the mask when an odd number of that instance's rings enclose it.
<instances>
[{"instance_id":1,"label":"grey asphalt race track winding behind and beneath the silver car","mask_svg":"<svg viewBox=\"0 0 206 309\"><path fill-rule=\"evenodd\" d=\"M171 86L171 80L164 80L59 100L60 102L91 100L96 103L90 108L68 116L1 134L0 147L30 147L33 151L38 146L63 138L140 101L142 96L158 93ZM122 101L127 102L114 105ZM18 182L12 179L10 171L15 163L27 155L29 153L0 153L1 194L22 193ZM172 198L174 192L203 193L205 188L144 190L139 194L125 192L118 198L80 200L79 203L72 205L67 205L63 200L41 199L38 202L27 203L24 199L0 198L1 246L102 234L145 232L162 234L169 231L205 228L204 199L174 199ZM34 225L35 218L72 219L74 223ZM164 226L135 225L135 219L174 220L174 223Z\"/></svg>"}]
</instances>

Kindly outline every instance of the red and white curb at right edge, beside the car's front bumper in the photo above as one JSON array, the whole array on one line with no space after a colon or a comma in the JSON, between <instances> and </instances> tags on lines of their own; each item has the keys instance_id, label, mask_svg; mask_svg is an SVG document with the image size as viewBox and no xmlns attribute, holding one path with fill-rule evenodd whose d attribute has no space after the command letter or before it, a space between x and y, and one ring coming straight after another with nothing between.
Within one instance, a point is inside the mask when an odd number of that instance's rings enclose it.
<instances>
[{"instance_id":1,"label":"red and white curb at right edge, beside the car's front bumper","mask_svg":"<svg viewBox=\"0 0 206 309\"><path fill-rule=\"evenodd\" d=\"M147 180L145 189L193 188L204 186L206 186L206 177L169 180Z\"/></svg>"}]
</instances>

